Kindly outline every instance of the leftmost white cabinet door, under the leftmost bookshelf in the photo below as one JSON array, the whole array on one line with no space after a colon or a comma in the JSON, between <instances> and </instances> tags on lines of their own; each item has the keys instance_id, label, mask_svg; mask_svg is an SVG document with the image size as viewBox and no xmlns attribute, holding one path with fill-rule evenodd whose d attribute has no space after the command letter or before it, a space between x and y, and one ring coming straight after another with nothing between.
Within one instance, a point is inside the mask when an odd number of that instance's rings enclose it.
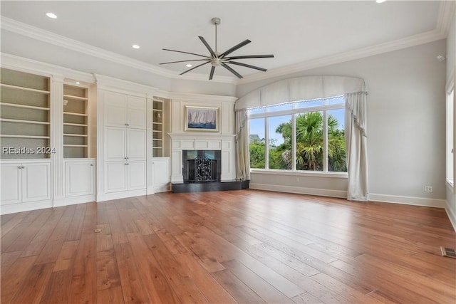
<instances>
[{"instance_id":1,"label":"leftmost white cabinet door, under the leftmost bookshelf","mask_svg":"<svg viewBox=\"0 0 456 304\"><path fill-rule=\"evenodd\" d=\"M16 204L22 200L21 164L1 164L1 204Z\"/></svg>"}]
</instances>

